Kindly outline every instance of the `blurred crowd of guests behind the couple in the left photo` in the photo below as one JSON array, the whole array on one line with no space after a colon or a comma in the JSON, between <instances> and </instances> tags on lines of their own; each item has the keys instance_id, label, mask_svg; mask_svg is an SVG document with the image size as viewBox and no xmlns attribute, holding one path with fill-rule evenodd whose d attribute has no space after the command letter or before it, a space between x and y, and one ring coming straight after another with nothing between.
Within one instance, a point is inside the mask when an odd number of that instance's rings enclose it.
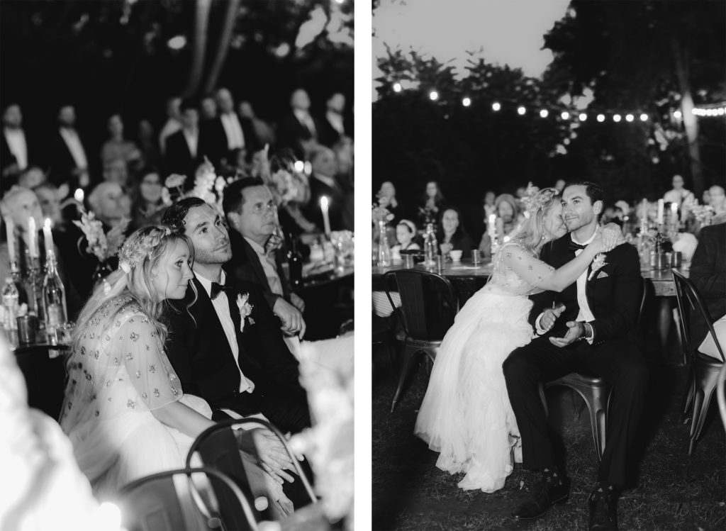
<instances>
[{"instance_id":1,"label":"blurred crowd of guests behind the couple in the left photo","mask_svg":"<svg viewBox=\"0 0 726 531\"><path fill-rule=\"evenodd\" d=\"M126 235L159 223L175 195L189 192L208 163L227 183L262 177L270 184L271 173L294 174L289 196L282 200L273 192L282 235L313 241L323 230L323 195L329 200L331 230L353 230L353 126L345 118L350 113L339 92L320 104L325 112L311 113L307 92L296 89L289 112L274 124L258 118L250 102L235 102L225 88L198 100L171 97L158 132L141 120L131 139L122 115L114 113L107 118L106 141L92 153L92 143L86 142L91 137L76 129L73 105L61 105L57 127L41 135L26 131L22 108L9 103L2 113L0 211L15 224L20 268L25 267L28 219L35 219L38 230L51 219L69 313L75 315L91 293L99 267L110 272L116 261L103 263L87 251L87 238L73 222L92 212L104 232L122 225ZM89 134L100 137L104 131ZM186 179L179 187L168 187L172 174ZM1 225L0 280L9 272ZM40 254L42 267L42 243Z\"/></svg>"}]
</instances>

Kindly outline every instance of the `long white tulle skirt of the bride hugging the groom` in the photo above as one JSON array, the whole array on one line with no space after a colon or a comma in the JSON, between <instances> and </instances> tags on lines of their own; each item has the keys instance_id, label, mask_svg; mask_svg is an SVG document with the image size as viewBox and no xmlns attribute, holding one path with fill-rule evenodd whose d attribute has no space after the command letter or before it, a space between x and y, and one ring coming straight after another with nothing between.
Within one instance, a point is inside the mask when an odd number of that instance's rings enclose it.
<instances>
[{"instance_id":1,"label":"long white tulle skirt of the bride hugging the groom","mask_svg":"<svg viewBox=\"0 0 726 531\"><path fill-rule=\"evenodd\" d=\"M457 314L436 354L415 434L440 452L439 469L466 473L462 489L499 490L514 461L521 463L502 362L531 341L531 305L485 287Z\"/></svg>"}]
</instances>

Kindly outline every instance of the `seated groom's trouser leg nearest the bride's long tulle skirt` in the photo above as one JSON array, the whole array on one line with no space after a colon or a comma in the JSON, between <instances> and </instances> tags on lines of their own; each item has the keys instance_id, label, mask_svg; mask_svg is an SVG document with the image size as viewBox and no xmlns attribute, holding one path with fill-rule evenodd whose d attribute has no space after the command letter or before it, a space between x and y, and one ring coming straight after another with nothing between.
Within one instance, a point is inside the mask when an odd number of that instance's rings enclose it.
<instances>
[{"instance_id":1,"label":"seated groom's trouser leg nearest the bride's long tulle skirt","mask_svg":"<svg viewBox=\"0 0 726 531\"><path fill-rule=\"evenodd\" d=\"M539 383L574 370L578 350L579 346L560 348L548 339L534 339L513 350L502 365L507 394L522 437L522 464L526 469L544 469L557 464Z\"/></svg>"}]
</instances>

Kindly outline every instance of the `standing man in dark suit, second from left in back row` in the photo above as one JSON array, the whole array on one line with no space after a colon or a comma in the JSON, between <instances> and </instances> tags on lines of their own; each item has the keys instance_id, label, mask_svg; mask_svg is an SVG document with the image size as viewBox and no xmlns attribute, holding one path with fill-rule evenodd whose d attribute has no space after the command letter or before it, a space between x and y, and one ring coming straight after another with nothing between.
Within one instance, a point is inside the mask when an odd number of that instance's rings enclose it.
<instances>
[{"instance_id":1,"label":"standing man in dark suit, second from left in back row","mask_svg":"<svg viewBox=\"0 0 726 531\"><path fill-rule=\"evenodd\" d=\"M76 109L63 105L58 111L58 129L48 144L50 180L60 186L68 183L71 190L91 184L89 158L78 131L76 131Z\"/></svg>"}]
</instances>

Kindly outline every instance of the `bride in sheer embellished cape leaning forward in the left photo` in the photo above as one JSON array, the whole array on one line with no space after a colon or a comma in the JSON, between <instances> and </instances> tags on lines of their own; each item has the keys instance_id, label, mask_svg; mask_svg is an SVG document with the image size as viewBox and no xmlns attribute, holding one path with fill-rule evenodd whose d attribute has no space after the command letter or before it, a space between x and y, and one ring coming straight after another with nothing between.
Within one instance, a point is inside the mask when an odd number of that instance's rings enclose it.
<instances>
[{"instance_id":1,"label":"bride in sheer embellished cape leaning forward in the left photo","mask_svg":"<svg viewBox=\"0 0 726 531\"><path fill-rule=\"evenodd\" d=\"M209 405L184 394L166 353L165 299L183 299L192 273L189 239L163 226L136 230L119 252L119 269L81 310L68 359L60 425L97 498L156 472L184 468L195 437L210 426ZM277 516L293 510L282 493L292 469L266 430L237 432L250 487ZM260 464L274 475L258 467Z\"/></svg>"}]
</instances>

